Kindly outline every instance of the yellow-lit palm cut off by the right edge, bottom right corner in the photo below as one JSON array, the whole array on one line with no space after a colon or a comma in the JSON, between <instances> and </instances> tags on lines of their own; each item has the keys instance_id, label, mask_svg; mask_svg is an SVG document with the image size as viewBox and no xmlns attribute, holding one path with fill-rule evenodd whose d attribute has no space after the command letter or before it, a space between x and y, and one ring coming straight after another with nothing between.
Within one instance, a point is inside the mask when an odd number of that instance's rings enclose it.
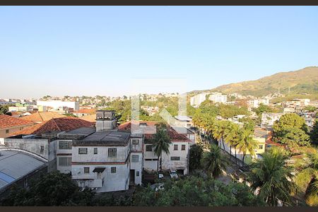
<instances>
[{"instance_id":1,"label":"yellow-lit palm cut off by the right edge, bottom right corner","mask_svg":"<svg viewBox=\"0 0 318 212\"><path fill-rule=\"evenodd\" d=\"M306 203L309 206L318 206L318 153L307 154L303 158L295 182L306 189Z\"/></svg>"}]
</instances>

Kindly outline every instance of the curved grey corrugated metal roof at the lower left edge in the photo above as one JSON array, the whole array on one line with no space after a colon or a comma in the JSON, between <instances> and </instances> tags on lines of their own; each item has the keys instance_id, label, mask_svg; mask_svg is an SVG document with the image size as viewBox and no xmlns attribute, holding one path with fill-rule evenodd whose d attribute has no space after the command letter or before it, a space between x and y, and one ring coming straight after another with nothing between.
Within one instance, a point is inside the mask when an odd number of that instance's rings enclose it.
<instances>
[{"instance_id":1,"label":"curved grey corrugated metal roof at the lower left edge","mask_svg":"<svg viewBox=\"0 0 318 212\"><path fill-rule=\"evenodd\" d=\"M37 170L45 162L20 151L0 151L0 189Z\"/></svg>"}]
</instances>

